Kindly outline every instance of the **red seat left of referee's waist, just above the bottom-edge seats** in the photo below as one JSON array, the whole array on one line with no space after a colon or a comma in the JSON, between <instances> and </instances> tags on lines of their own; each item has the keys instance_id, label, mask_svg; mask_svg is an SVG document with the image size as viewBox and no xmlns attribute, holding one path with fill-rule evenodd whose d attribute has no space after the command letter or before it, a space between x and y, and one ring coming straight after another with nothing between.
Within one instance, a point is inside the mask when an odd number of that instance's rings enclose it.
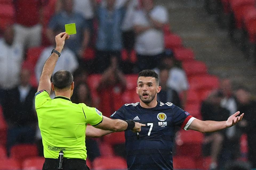
<instances>
[{"instance_id":1,"label":"red seat left of referee's waist, just above the bottom-edge seats","mask_svg":"<svg viewBox=\"0 0 256 170\"><path fill-rule=\"evenodd\" d=\"M20 161L35 156L38 156L38 150L37 146L33 144L14 145L10 150L10 157Z\"/></svg>"}]
</instances>

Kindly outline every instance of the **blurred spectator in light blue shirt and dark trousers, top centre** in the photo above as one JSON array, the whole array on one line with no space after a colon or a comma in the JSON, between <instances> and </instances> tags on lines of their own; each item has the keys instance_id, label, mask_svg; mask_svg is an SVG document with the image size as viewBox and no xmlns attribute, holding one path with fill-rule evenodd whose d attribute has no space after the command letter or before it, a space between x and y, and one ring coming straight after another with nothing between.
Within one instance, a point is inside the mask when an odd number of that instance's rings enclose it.
<instances>
[{"instance_id":1,"label":"blurred spectator in light blue shirt and dark trousers, top centre","mask_svg":"<svg viewBox=\"0 0 256 170\"><path fill-rule=\"evenodd\" d=\"M112 55L121 59L122 31L121 24L126 6L116 7L115 0L106 0L105 3L96 5L98 20L98 33L96 40L95 66L98 73L103 73L110 64ZM119 64L120 66L120 64Z\"/></svg>"}]
</instances>

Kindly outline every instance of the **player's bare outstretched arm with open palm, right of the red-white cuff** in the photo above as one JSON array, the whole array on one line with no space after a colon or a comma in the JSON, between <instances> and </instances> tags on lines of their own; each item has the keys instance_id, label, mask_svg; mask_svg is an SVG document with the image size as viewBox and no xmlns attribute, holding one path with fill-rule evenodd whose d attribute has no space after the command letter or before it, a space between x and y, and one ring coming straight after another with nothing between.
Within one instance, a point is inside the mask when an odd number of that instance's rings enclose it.
<instances>
[{"instance_id":1,"label":"player's bare outstretched arm with open palm, right of the red-white cuff","mask_svg":"<svg viewBox=\"0 0 256 170\"><path fill-rule=\"evenodd\" d=\"M244 113L238 116L239 113L240 112L238 111L235 114L231 115L226 121L211 121L211 120L202 121L202 120L195 119L190 124L188 129L206 133L206 132L215 132L225 128L229 128L242 120Z\"/></svg>"}]
</instances>

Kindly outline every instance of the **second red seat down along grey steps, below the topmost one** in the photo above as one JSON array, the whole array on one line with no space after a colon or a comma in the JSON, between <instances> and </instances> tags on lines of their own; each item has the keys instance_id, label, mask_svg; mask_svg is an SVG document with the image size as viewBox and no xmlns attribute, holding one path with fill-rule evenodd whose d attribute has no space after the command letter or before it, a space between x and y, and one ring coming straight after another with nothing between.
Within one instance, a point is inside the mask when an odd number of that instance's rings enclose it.
<instances>
[{"instance_id":1,"label":"second red seat down along grey steps, below the topmost one","mask_svg":"<svg viewBox=\"0 0 256 170\"><path fill-rule=\"evenodd\" d=\"M173 50L174 57L179 61L191 61L195 59L192 49L189 48L176 48Z\"/></svg>"}]
</instances>

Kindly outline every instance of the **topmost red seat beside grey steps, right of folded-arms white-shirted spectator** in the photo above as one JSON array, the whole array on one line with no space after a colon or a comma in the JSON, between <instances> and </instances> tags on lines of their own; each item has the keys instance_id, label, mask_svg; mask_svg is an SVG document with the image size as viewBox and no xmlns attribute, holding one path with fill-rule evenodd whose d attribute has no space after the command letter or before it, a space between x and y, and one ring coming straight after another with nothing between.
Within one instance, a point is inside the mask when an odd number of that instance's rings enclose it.
<instances>
[{"instance_id":1,"label":"topmost red seat beside grey steps, right of folded-arms white-shirted spectator","mask_svg":"<svg viewBox=\"0 0 256 170\"><path fill-rule=\"evenodd\" d=\"M175 49L182 48L182 40L181 37L175 34L166 34L164 36L165 39L165 48Z\"/></svg>"}]
</instances>

